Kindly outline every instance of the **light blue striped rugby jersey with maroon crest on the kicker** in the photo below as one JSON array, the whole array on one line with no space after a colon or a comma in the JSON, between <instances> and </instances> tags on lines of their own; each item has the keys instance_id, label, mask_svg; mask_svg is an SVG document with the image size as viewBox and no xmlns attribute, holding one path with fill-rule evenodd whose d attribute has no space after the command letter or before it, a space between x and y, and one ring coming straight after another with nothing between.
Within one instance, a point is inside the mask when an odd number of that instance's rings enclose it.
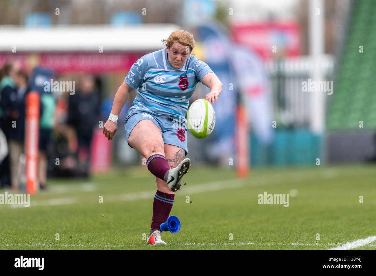
<instances>
[{"instance_id":1,"label":"light blue striped rugby jersey with maroon crest on the kicker","mask_svg":"<svg viewBox=\"0 0 376 276\"><path fill-rule=\"evenodd\" d=\"M138 112L184 118L196 84L211 72L205 62L192 54L179 69L168 62L166 48L146 54L132 65L125 78L130 87L138 88L126 118Z\"/></svg>"}]
</instances>

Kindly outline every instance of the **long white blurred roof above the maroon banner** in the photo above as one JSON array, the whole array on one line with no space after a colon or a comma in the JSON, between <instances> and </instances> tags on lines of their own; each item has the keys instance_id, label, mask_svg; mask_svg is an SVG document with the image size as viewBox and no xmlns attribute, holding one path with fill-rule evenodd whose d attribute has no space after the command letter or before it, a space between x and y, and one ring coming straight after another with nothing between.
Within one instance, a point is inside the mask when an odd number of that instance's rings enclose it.
<instances>
[{"instance_id":1,"label":"long white blurred roof above the maroon banner","mask_svg":"<svg viewBox=\"0 0 376 276\"><path fill-rule=\"evenodd\" d=\"M19 27L0 26L0 51L144 51L181 29L176 24Z\"/></svg>"}]
</instances>

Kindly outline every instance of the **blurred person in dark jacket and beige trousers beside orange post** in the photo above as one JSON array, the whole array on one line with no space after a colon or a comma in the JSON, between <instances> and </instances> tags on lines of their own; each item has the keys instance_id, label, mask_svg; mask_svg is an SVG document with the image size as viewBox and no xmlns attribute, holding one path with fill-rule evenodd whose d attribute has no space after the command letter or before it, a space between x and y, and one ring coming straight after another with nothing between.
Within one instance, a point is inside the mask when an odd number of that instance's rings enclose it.
<instances>
[{"instance_id":1,"label":"blurred person in dark jacket and beige trousers beside orange post","mask_svg":"<svg viewBox=\"0 0 376 276\"><path fill-rule=\"evenodd\" d=\"M17 97L12 101L11 119L14 127L9 131L9 157L11 169L11 186L16 190L19 187L20 157L24 154L25 140L25 102L29 92L28 75L26 71L20 70L15 74L15 85L17 87ZM24 169L21 169L24 171ZM24 184L24 183L23 183Z\"/></svg>"}]
</instances>

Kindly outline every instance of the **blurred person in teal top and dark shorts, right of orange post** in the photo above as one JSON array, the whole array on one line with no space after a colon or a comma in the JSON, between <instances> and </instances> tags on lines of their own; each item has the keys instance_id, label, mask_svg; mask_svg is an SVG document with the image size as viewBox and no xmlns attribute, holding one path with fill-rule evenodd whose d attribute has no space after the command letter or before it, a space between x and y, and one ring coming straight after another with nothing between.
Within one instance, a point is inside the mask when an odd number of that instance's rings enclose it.
<instances>
[{"instance_id":1,"label":"blurred person in teal top and dark shorts, right of orange post","mask_svg":"<svg viewBox=\"0 0 376 276\"><path fill-rule=\"evenodd\" d=\"M38 178L41 190L47 189L47 153L54 126L56 101L51 93L41 94L41 118L39 122Z\"/></svg>"}]
</instances>

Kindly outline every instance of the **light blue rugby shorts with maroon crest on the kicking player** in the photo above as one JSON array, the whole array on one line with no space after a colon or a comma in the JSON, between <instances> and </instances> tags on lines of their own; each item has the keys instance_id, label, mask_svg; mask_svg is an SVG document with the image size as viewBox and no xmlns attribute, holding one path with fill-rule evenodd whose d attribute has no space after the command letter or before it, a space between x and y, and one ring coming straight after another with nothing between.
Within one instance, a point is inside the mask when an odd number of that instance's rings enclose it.
<instances>
[{"instance_id":1,"label":"light blue rugby shorts with maroon crest on the kicking player","mask_svg":"<svg viewBox=\"0 0 376 276\"><path fill-rule=\"evenodd\" d=\"M162 131L162 138L165 144L178 146L185 150L185 156L188 154L186 119L184 121L180 119L179 123L179 117L164 118L147 112L130 113L124 124L127 142L129 134L135 125L142 120L152 121ZM132 146L130 147L133 148Z\"/></svg>"}]
</instances>

